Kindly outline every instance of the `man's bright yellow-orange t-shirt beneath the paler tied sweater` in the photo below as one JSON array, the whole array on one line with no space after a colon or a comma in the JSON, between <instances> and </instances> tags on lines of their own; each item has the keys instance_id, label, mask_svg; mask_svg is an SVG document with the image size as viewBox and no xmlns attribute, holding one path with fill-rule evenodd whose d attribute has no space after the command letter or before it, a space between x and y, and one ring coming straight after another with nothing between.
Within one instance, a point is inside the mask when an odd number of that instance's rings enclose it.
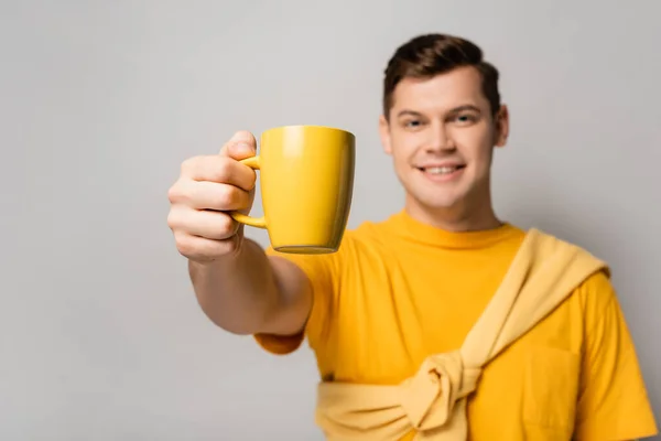
<instances>
[{"instance_id":1,"label":"man's bright yellow-orange t-shirt beneath the paler tied sweater","mask_svg":"<svg viewBox=\"0 0 661 441\"><path fill-rule=\"evenodd\" d=\"M524 232L506 224L449 233L405 212L347 230L338 252L277 254L310 278L305 335L322 379L397 384L422 361L462 346ZM256 335L286 354L303 335ZM468 399L472 440L626 440L657 433L636 351L605 273L483 372Z\"/></svg>"}]
</instances>

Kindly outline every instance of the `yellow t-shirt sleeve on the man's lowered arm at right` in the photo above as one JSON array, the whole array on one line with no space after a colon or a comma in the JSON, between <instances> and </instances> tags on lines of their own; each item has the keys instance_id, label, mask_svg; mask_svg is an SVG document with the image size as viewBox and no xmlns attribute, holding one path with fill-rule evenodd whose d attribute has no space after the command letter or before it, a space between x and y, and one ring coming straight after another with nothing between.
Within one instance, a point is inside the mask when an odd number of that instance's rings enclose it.
<instances>
[{"instance_id":1,"label":"yellow t-shirt sleeve on the man's lowered arm at right","mask_svg":"<svg viewBox=\"0 0 661 441\"><path fill-rule=\"evenodd\" d=\"M582 287L586 299L576 440L633 440L658 432L636 348L610 280Z\"/></svg>"}]
</instances>

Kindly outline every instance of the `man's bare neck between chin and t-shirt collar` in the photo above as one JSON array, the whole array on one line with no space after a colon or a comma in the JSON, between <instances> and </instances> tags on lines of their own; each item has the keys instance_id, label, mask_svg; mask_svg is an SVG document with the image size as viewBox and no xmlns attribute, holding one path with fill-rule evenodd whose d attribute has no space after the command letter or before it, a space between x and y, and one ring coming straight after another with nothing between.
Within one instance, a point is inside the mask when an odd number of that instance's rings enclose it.
<instances>
[{"instance_id":1,"label":"man's bare neck between chin and t-shirt collar","mask_svg":"<svg viewBox=\"0 0 661 441\"><path fill-rule=\"evenodd\" d=\"M474 206L468 206L474 205ZM446 232L480 232L498 228L502 222L494 212L490 197L486 203L460 203L452 207L429 207L407 197L405 211L412 218Z\"/></svg>"}]
</instances>

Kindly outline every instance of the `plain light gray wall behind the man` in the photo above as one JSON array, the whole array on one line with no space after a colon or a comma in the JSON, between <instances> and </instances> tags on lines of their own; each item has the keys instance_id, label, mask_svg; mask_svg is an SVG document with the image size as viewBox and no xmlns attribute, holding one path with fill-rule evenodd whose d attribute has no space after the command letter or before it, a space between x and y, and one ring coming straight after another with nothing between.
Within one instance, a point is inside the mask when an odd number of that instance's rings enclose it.
<instances>
[{"instance_id":1,"label":"plain light gray wall behind the man","mask_svg":"<svg viewBox=\"0 0 661 441\"><path fill-rule=\"evenodd\" d=\"M1 2L0 439L321 439L311 352L202 314L166 192L235 130L321 123L357 135L350 225L400 209L381 74L437 31L502 71L498 214L613 265L661 418L661 6L624 4Z\"/></svg>"}]
</instances>

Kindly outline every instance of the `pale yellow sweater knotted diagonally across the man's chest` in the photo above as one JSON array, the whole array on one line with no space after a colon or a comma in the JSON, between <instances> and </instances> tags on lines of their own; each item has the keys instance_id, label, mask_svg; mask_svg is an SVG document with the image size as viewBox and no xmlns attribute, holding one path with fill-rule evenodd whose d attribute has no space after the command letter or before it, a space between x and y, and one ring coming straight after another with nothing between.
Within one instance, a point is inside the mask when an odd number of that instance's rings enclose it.
<instances>
[{"instance_id":1,"label":"pale yellow sweater knotted diagonally across the man's chest","mask_svg":"<svg viewBox=\"0 0 661 441\"><path fill-rule=\"evenodd\" d=\"M501 284L458 351L429 356L399 385L324 381L316 422L330 441L466 440L467 397L481 368L562 303L585 279L608 268L577 246L527 233Z\"/></svg>"}]
</instances>

